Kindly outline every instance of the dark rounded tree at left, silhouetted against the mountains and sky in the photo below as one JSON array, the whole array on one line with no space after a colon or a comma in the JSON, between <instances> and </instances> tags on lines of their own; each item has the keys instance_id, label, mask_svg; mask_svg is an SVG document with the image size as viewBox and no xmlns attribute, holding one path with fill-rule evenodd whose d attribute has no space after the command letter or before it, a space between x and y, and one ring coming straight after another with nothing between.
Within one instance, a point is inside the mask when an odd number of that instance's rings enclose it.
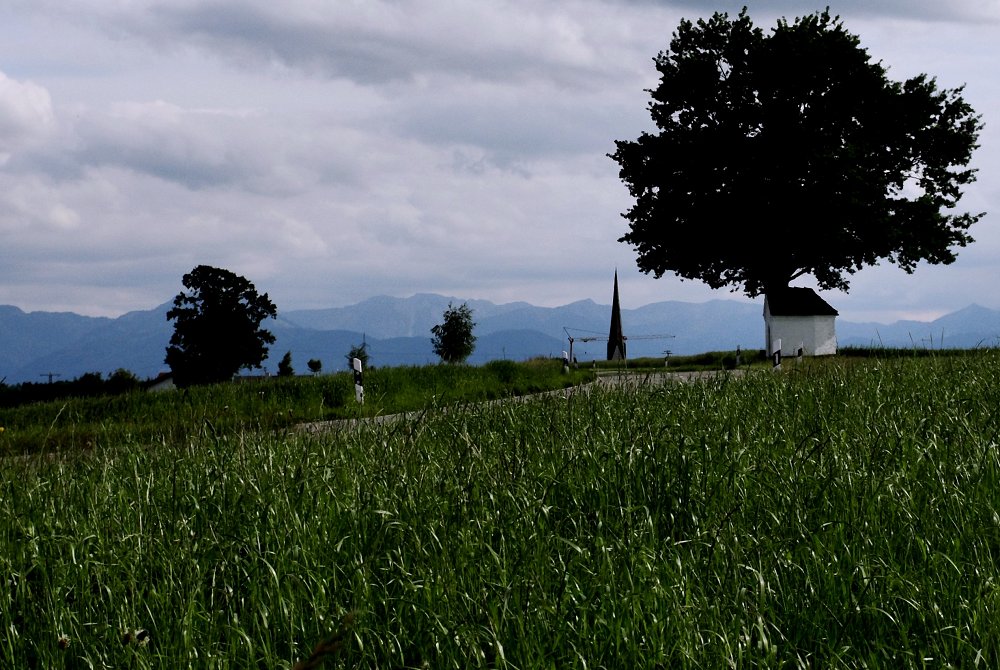
<instances>
[{"instance_id":1,"label":"dark rounded tree at left, silhouetted against the mountains and sky","mask_svg":"<svg viewBox=\"0 0 1000 670\"><path fill-rule=\"evenodd\" d=\"M267 294L244 277L199 265L182 280L188 292L174 298L167 319L174 334L166 363L178 386L232 379L240 368L260 367L274 335L260 327L277 316Z\"/></svg>"}]
</instances>

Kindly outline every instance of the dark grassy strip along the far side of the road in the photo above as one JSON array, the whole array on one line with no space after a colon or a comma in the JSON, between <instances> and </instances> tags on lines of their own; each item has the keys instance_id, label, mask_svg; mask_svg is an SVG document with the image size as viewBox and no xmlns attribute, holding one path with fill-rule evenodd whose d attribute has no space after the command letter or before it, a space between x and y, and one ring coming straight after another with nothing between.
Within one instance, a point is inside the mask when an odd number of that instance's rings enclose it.
<instances>
[{"instance_id":1,"label":"dark grassy strip along the far side of the road","mask_svg":"<svg viewBox=\"0 0 1000 670\"><path fill-rule=\"evenodd\" d=\"M0 408L0 455L90 450L123 440L185 444L194 433L280 431L303 422L372 417L456 402L477 402L560 389L593 379L566 374L559 361L494 361L484 366L431 365L372 369L365 404L355 401L353 374L268 377L183 391L132 391Z\"/></svg>"}]
</instances>

